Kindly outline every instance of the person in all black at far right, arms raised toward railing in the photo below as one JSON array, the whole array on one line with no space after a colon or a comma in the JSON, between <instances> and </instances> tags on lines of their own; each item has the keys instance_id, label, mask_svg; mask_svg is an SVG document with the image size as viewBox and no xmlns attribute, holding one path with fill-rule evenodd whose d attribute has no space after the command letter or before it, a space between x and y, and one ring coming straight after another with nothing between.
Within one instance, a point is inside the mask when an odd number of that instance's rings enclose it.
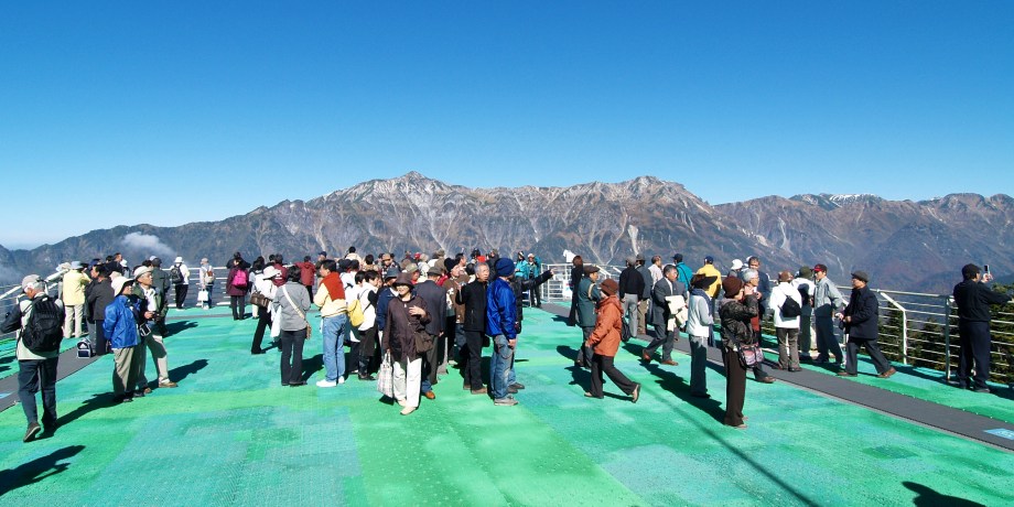
<instances>
[{"instance_id":1,"label":"person in all black at far right, arms raised toward railing","mask_svg":"<svg viewBox=\"0 0 1014 507\"><path fill-rule=\"evenodd\" d=\"M954 285L954 304L958 306L958 337L961 349L958 356L958 380L952 386L990 392L990 305L1011 302L1011 296L993 291L983 283L979 266L961 268L961 283ZM974 366L975 375L972 376Z\"/></svg>"}]
</instances>

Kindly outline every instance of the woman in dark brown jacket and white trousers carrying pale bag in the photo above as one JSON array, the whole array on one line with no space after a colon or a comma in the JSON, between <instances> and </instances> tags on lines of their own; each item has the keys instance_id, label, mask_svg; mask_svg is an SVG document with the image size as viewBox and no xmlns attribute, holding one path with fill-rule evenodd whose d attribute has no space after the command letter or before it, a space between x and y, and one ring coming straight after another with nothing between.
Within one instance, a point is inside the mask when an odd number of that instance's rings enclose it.
<instances>
[{"instance_id":1,"label":"woman in dark brown jacket and white trousers carrying pale bag","mask_svg":"<svg viewBox=\"0 0 1014 507\"><path fill-rule=\"evenodd\" d=\"M416 352L416 334L425 333L430 322L427 302L412 293L412 276L398 274L391 284L398 296L387 306L384 330L384 346L391 355L395 400L403 407L402 416L419 408L419 392L422 387L422 356Z\"/></svg>"}]
</instances>

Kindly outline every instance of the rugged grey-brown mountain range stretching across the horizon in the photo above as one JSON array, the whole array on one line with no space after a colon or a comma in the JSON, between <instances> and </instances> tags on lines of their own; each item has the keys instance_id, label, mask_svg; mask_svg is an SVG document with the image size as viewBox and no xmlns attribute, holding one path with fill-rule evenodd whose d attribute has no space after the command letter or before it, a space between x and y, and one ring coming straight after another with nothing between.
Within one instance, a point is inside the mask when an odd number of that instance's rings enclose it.
<instances>
[{"instance_id":1,"label":"rugged grey-brown mountain range stretching across the horizon","mask_svg":"<svg viewBox=\"0 0 1014 507\"><path fill-rule=\"evenodd\" d=\"M845 282L863 269L874 287L949 291L967 262L1014 268L1014 199L954 194L925 202L873 195L763 197L711 206L682 185L652 176L569 187L468 188L419 173L373 180L308 202L284 201L222 222L181 227L120 226L33 250L0 247L0 281L51 272L62 261L115 251L133 265L149 255L208 257L216 266L234 251L250 260L281 252L298 260L320 250L406 250L449 255L497 248L501 255L538 252L562 262L570 249L595 263L623 263L634 254L682 252L693 268L704 256L720 270L733 258L759 255L764 269L823 262Z\"/></svg>"}]
</instances>

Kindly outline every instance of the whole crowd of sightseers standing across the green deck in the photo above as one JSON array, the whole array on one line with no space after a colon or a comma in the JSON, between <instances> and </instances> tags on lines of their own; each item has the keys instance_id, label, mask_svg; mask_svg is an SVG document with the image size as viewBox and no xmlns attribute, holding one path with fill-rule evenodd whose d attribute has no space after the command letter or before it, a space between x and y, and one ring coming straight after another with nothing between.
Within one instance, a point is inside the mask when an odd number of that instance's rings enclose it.
<instances>
[{"instance_id":1,"label":"whole crowd of sightseers standing across the green deck","mask_svg":"<svg viewBox=\"0 0 1014 507\"><path fill-rule=\"evenodd\" d=\"M877 346L878 302L867 287L866 272L851 273L852 292L845 304L822 263L795 272L784 270L773 280L762 270L758 257L748 258L746 263L734 260L724 276L712 257L702 261L692 270L680 254L665 265L660 256L648 263L645 256L637 255L626 259L617 280L574 257L567 323L581 327L574 367L591 370L586 397L602 399L607 376L637 402L640 384L615 366L621 344L644 337L648 344L639 350L643 362L677 366L672 352L682 332L690 342L690 395L710 398L706 352L708 347L719 347L726 376L724 423L745 429L747 371L753 371L758 382L775 381L765 371L764 362L751 359L767 314L778 343L777 360L772 362L775 368L792 373L800 370L800 362L833 360L838 375L856 376L857 352L865 347L878 377L895 374ZM83 338L85 322L90 333L82 343L95 355L114 355L114 402L130 402L154 388L176 387L170 378L163 339L168 293L172 287L175 306L182 309L190 269L180 257L168 270L157 257L128 266L119 255L109 256L105 262L95 259L87 267L82 262L64 265L56 298L48 294L46 281L37 276L22 281L25 300L8 314L3 332L18 332L19 395L29 421L24 441L40 431L55 430L58 342L63 337ZM319 330L324 373L316 387L334 388L355 375L360 381L376 382L404 416L416 411L422 398L436 398L433 386L439 375L454 365L461 369L463 388L472 395L486 396L495 406L517 404L514 395L525 389L515 371L522 301L540 306L539 287L554 276L533 254L518 252L515 261L496 250L453 257L443 250L432 257L406 252L396 262L391 252L360 257L350 247L339 258L321 251L315 262L306 256L291 265L278 254L247 262L236 252L226 268L224 291L231 316L247 319L249 301L257 319L250 352L265 354L270 346L281 352L282 386L306 385L312 373L303 371L303 348ZM974 265L966 266L962 277L964 281L954 288L961 336L956 385L984 392L989 305L1011 299L981 283L984 280ZM215 272L207 259L201 261L197 281L202 292L198 302L208 308L213 304ZM314 306L320 322L308 316ZM845 337L844 348L834 332L835 321ZM809 353L811 326L816 330L816 358ZM266 333L270 333L269 347L265 346ZM350 348L348 356L346 346ZM486 347L492 347L488 381L481 368ZM659 348L660 358L656 356ZM152 382L145 376L148 353L158 371ZM35 403L40 391L42 425Z\"/></svg>"}]
</instances>

